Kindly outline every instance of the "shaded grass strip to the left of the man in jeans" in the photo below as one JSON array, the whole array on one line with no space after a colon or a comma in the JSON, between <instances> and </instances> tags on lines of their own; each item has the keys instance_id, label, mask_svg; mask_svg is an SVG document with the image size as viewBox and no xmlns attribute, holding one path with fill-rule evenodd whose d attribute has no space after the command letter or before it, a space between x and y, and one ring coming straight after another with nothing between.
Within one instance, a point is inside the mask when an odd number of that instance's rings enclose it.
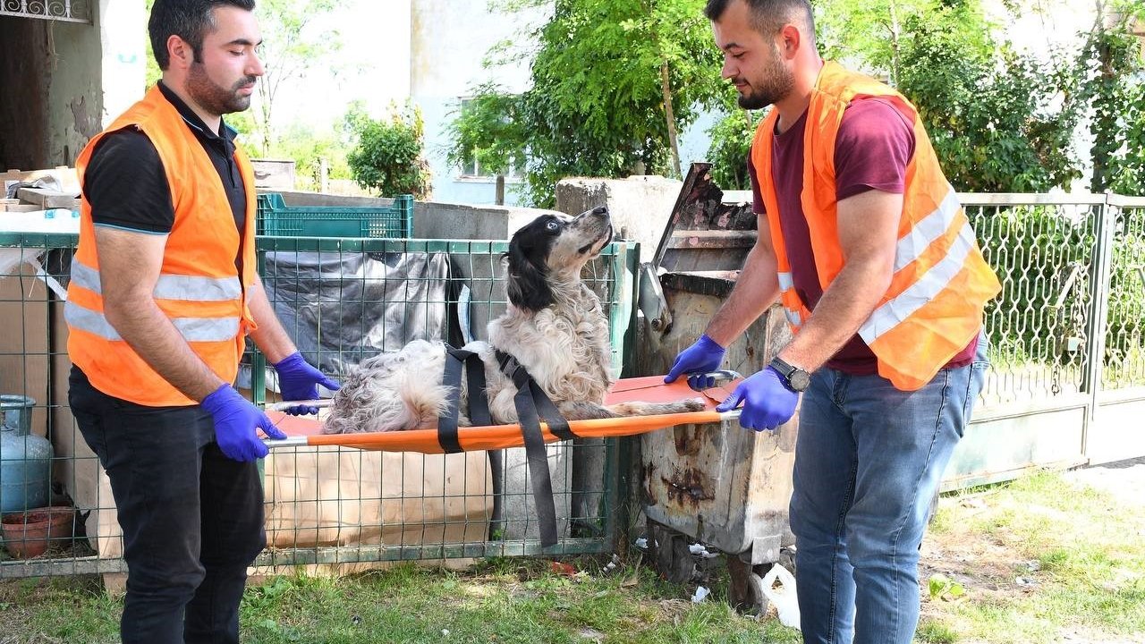
<instances>
[{"instance_id":1,"label":"shaded grass strip to the left of the man in jeans","mask_svg":"<svg viewBox=\"0 0 1145 644\"><path fill-rule=\"evenodd\" d=\"M647 566L605 576L570 561L569 576L540 559L495 559L471 571L401 565L341 579L285 575L243 599L244 643L795 643L774 619L736 614L725 602L693 604ZM0 584L0 644L117 642L118 600L92 582Z\"/></svg>"}]
</instances>

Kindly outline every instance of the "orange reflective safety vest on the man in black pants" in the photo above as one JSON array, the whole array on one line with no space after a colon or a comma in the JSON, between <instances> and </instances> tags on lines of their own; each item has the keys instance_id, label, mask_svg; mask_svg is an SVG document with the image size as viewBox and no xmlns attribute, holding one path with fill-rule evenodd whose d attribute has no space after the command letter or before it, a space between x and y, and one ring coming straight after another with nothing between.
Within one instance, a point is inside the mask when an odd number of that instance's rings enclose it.
<instances>
[{"instance_id":1,"label":"orange reflective safety vest on the man in black pants","mask_svg":"<svg viewBox=\"0 0 1145 644\"><path fill-rule=\"evenodd\" d=\"M246 226L242 238L242 275L235 266L239 235L219 172L183 117L158 86L93 138L76 160L80 183L92 151L109 132L136 127L151 140L171 186L175 221L167 236L163 266L152 296L191 351L224 382L232 383L255 329L246 305L254 283L254 172L235 150L246 187ZM100 261L92 205L80 205L80 233L68 284L68 354L101 392L149 407L196 401L176 390L127 345L103 314Z\"/></svg>"}]
</instances>

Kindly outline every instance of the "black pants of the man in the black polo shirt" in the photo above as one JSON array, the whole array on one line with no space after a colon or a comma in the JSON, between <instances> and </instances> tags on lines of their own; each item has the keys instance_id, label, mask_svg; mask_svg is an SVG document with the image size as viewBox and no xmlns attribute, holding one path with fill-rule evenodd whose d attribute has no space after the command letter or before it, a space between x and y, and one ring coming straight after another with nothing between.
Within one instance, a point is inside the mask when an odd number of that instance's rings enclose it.
<instances>
[{"instance_id":1,"label":"black pants of the man in the black polo shirt","mask_svg":"<svg viewBox=\"0 0 1145 644\"><path fill-rule=\"evenodd\" d=\"M124 644L237 644L246 567L266 545L258 464L223 456L197 405L134 405L76 367L70 384L124 531Z\"/></svg>"}]
</instances>

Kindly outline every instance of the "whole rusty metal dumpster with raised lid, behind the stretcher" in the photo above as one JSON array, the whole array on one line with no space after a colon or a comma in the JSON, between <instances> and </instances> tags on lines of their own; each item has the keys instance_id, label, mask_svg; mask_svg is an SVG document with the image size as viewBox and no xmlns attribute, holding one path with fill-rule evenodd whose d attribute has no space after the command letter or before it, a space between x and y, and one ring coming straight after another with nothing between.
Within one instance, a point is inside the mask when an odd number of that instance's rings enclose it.
<instances>
[{"instance_id":1,"label":"whole rusty metal dumpster with raised lid, behind the stretcher","mask_svg":"<svg viewBox=\"0 0 1145 644\"><path fill-rule=\"evenodd\" d=\"M727 299L756 241L750 193L725 194L710 164L693 164L656 254L641 267L635 346L639 374L666 374ZM744 376L763 369L790 339L782 309L769 308L732 346L722 368ZM681 425L641 438L643 510L648 544L666 578L687 581L689 542L727 555L732 600L766 610L761 579L790 564L788 523L797 419L775 432L737 422Z\"/></svg>"}]
</instances>

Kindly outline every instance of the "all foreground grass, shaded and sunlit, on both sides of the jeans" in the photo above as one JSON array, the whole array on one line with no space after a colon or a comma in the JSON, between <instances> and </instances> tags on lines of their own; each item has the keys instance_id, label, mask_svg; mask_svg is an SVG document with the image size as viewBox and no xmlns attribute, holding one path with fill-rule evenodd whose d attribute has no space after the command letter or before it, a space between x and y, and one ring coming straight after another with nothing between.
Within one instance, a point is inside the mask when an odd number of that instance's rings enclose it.
<instances>
[{"instance_id":1,"label":"all foreground grass, shaded and sunlit, on both sides of the jeans","mask_svg":"<svg viewBox=\"0 0 1145 644\"><path fill-rule=\"evenodd\" d=\"M930 644L1145 642L1145 511L1068 474L945 496L923 545ZM244 643L799 642L774 616L736 614L726 574L708 602L630 561L490 559L465 572L401 565L341 579L252 584ZM121 604L94 578L0 582L0 644L113 643ZM774 614L774 613L772 613Z\"/></svg>"}]
</instances>

